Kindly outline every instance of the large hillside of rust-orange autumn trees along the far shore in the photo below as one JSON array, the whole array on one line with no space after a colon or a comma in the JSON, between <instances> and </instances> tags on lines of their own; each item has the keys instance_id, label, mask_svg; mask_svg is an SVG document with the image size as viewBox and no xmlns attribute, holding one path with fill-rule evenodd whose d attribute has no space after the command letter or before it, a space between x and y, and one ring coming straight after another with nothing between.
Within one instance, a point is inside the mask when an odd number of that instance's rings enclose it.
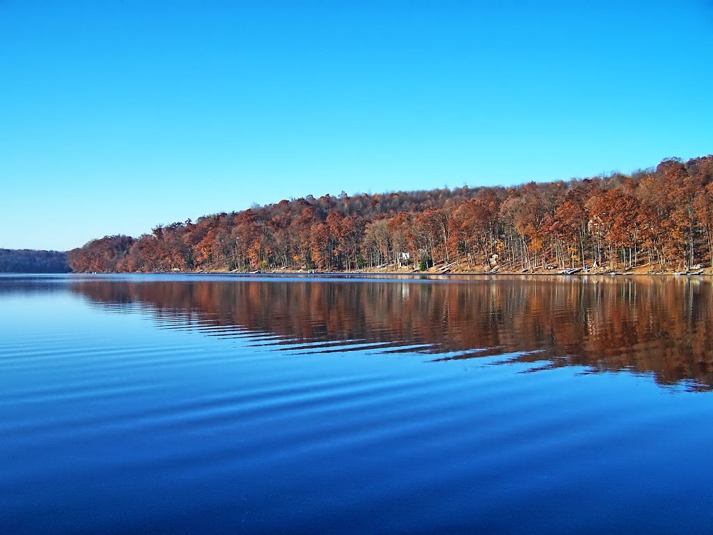
<instances>
[{"instance_id":1,"label":"large hillside of rust-orange autumn trees along the far shore","mask_svg":"<svg viewBox=\"0 0 713 535\"><path fill-rule=\"evenodd\" d=\"M106 236L68 258L78 272L711 265L713 156L514 188L310 195Z\"/></svg>"}]
</instances>

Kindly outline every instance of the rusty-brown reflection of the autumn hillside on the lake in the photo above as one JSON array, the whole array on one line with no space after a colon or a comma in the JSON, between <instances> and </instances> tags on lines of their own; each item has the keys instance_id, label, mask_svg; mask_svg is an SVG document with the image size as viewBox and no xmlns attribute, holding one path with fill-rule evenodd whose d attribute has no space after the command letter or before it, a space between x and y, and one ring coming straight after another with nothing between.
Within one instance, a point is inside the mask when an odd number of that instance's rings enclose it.
<instances>
[{"instance_id":1,"label":"rusty-brown reflection of the autumn hillside on the lake","mask_svg":"<svg viewBox=\"0 0 713 535\"><path fill-rule=\"evenodd\" d=\"M148 308L165 326L264 335L260 343L275 350L418 352L433 361L515 352L508 358L545 367L713 385L713 290L702 279L78 279L71 290L104 306Z\"/></svg>"}]
</instances>

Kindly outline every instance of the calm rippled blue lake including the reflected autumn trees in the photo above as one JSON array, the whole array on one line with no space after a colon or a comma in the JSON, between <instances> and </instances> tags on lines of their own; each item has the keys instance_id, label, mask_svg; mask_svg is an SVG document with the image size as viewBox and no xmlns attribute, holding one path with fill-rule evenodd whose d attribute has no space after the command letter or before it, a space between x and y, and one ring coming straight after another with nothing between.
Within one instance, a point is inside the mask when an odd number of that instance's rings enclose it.
<instances>
[{"instance_id":1,"label":"calm rippled blue lake including the reflected autumn trees","mask_svg":"<svg viewBox=\"0 0 713 535\"><path fill-rule=\"evenodd\" d=\"M2 534L701 533L704 277L0 277Z\"/></svg>"}]
</instances>

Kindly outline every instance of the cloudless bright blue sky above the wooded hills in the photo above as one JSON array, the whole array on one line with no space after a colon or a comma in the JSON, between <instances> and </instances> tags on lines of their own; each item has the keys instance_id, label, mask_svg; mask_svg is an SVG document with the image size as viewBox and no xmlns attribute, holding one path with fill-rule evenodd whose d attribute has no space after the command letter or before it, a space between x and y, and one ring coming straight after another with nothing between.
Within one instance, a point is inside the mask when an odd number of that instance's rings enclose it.
<instances>
[{"instance_id":1,"label":"cloudless bright blue sky above the wooded hills","mask_svg":"<svg viewBox=\"0 0 713 535\"><path fill-rule=\"evenodd\" d=\"M0 0L0 248L713 152L711 1Z\"/></svg>"}]
</instances>

